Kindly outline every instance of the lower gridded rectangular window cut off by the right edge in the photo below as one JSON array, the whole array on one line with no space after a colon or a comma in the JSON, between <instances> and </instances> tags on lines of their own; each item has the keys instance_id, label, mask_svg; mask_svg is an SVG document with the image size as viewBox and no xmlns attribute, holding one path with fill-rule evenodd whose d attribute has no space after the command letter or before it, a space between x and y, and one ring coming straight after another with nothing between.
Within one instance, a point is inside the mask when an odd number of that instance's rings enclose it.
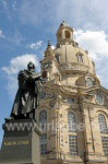
<instances>
[{"instance_id":1,"label":"lower gridded rectangular window cut off by the right edge","mask_svg":"<svg viewBox=\"0 0 108 164\"><path fill-rule=\"evenodd\" d=\"M108 137L101 137L105 156L108 156Z\"/></svg>"}]
</instances>

